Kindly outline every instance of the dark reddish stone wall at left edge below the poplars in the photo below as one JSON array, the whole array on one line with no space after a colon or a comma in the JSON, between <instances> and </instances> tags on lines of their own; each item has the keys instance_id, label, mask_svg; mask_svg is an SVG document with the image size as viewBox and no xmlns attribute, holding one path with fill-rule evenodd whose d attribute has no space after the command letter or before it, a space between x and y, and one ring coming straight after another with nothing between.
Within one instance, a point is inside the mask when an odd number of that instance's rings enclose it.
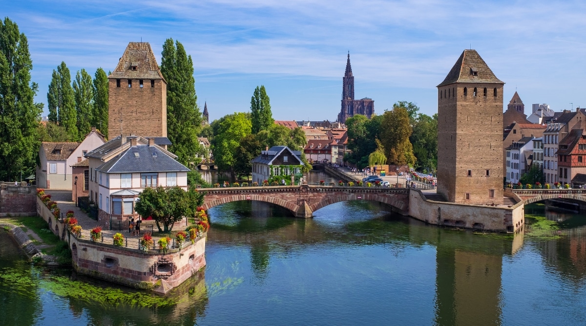
<instances>
[{"instance_id":1,"label":"dark reddish stone wall at left edge below the poplars","mask_svg":"<svg viewBox=\"0 0 586 326\"><path fill-rule=\"evenodd\" d=\"M21 182L0 184L0 216L34 216L36 215L36 188Z\"/></svg>"}]
</instances>

